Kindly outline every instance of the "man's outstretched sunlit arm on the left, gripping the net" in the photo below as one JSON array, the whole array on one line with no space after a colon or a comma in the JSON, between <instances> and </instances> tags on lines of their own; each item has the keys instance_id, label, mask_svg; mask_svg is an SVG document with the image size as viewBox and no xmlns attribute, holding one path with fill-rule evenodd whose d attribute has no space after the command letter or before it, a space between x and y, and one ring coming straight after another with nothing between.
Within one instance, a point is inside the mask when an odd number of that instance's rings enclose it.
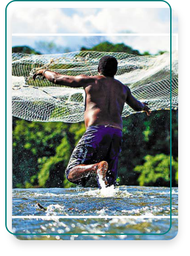
<instances>
[{"instance_id":1,"label":"man's outstretched sunlit arm on the left, gripping the net","mask_svg":"<svg viewBox=\"0 0 190 256\"><path fill-rule=\"evenodd\" d=\"M86 87L90 82L94 82L94 79L92 77L87 77L85 75L79 75L79 76L67 76L67 75L61 75L59 73L49 71L47 69L40 69L34 76L33 79L35 80L36 77L43 77L43 79L48 79L49 82L53 82L53 84L63 85L63 86L69 86L72 88L80 88L80 87Z\"/></svg>"}]
</instances>

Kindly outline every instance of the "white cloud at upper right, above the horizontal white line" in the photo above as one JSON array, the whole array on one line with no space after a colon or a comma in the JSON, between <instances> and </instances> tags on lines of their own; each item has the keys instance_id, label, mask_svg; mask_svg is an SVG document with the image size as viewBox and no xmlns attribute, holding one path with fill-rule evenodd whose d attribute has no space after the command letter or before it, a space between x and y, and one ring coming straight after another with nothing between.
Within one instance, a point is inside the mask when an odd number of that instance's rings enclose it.
<instances>
[{"instance_id":1,"label":"white cloud at upper right, above the horizontal white line","mask_svg":"<svg viewBox=\"0 0 190 256\"><path fill-rule=\"evenodd\" d=\"M170 22L160 20L158 9L102 9L96 16L89 19L102 33L118 33L126 30L133 33L170 32Z\"/></svg>"}]
</instances>

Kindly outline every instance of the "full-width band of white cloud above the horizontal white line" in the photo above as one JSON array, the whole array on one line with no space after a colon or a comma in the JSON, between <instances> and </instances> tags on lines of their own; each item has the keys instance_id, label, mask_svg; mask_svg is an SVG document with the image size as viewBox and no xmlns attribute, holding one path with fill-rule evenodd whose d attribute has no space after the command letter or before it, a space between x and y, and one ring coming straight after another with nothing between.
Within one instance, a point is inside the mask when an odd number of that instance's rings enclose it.
<instances>
[{"instance_id":1,"label":"full-width band of white cloud above the horizontal white line","mask_svg":"<svg viewBox=\"0 0 190 256\"><path fill-rule=\"evenodd\" d=\"M170 9L164 8L20 8L13 13L13 33L170 33ZM164 15L162 15L162 13ZM176 12L174 27L177 28ZM164 18L163 18L164 16Z\"/></svg>"}]
</instances>

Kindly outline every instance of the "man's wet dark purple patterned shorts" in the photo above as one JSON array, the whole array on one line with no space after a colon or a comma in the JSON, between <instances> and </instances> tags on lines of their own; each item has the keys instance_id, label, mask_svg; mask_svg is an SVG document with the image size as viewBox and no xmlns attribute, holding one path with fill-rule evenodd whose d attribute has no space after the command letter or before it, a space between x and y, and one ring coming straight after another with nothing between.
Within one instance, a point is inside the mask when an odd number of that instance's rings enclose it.
<instances>
[{"instance_id":1,"label":"man's wet dark purple patterned shorts","mask_svg":"<svg viewBox=\"0 0 190 256\"><path fill-rule=\"evenodd\" d=\"M115 185L117 179L117 165L121 152L122 131L106 125L90 126L77 144L66 170L69 172L80 164L97 164L101 161L108 162L106 179L108 185ZM83 187L90 177L84 177L73 183ZM97 180L98 181L98 180ZM99 187L100 184L98 183Z\"/></svg>"}]
</instances>

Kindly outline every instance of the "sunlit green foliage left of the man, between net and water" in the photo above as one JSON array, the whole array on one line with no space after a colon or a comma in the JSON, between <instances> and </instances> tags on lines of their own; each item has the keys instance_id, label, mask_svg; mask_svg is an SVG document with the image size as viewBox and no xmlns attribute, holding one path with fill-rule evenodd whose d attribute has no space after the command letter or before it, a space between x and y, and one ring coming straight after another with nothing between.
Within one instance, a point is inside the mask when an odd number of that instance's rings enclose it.
<instances>
[{"instance_id":1,"label":"sunlit green foliage left of the man, between net and water","mask_svg":"<svg viewBox=\"0 0 190 256\"><path fill-rule=\"evenodd\" d=\"M13 117L13 187L63 187L83 123L38 123Z\"/></svg>"}]
</instances>

